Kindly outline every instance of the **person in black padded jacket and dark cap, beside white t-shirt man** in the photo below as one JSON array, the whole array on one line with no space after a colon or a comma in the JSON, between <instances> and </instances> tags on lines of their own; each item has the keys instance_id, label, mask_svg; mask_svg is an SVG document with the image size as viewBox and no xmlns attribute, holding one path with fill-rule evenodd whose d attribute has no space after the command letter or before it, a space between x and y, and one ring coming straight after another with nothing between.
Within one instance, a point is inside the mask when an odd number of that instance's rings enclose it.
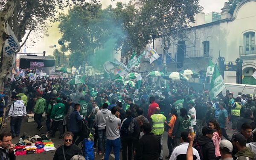
<instances>
[{"instance_id":1,"label":"person in black padded jacket and dark cap, beside white t-shirt man","mask_svg":"<svg viewBox=\"0 0 256 160\"><path fill-rule=\"evenodd\" d=\"M204 126L202 129L202 135L198 135L197 142L199 146L202 146L202 157L204 160L216 160L215 146L212 141L213 133L216 129L212 129L209 126Z\"/></svg>"}]
</instances>

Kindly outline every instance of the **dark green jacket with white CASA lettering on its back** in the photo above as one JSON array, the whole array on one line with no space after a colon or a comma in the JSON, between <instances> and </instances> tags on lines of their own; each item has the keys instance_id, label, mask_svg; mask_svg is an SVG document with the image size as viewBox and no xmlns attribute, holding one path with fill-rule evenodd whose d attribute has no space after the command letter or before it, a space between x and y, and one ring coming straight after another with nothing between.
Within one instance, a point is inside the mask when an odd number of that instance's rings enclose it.
<instances>
[{"instance_id":1,"label":"dark green jacket with white CASA lettering on its back","mask_svg":"<svg viewBox=\"0 0 256 160\"><path fill-rule=\"evenodd\" d=\"M51 119L60 121L64 119L65 105L63 103L57 103L52 107Z\"/></svg>"}]
</instances>

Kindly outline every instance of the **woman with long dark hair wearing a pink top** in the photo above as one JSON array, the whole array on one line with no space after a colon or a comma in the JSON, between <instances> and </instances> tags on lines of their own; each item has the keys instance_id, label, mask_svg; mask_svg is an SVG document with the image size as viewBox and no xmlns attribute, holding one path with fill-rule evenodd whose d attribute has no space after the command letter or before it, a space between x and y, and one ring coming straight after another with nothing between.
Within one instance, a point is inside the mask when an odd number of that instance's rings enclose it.
<instances>
[{"instance_id":1,"label":"woman with long dark hair wearing a pink top","mask_svg":"<svg viewBox=\"0 0 256 160\"><path fill-rule=\"evenodd\" d=\"M212 129L216 129L216 132L213 133L212 141L215 146L216 159L219 160L221 159L220 146L219 146L219 143L221 142L221 137L222 137L221 127L216 120L209 121L209 127L211 127Z\"/></svg>"}]
</instances>

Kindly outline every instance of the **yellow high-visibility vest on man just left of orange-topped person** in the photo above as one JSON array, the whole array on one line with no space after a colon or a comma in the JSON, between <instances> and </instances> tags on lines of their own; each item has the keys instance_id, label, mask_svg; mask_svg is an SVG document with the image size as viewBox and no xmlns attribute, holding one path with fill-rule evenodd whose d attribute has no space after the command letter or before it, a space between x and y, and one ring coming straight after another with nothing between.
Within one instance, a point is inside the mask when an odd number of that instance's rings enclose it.
<instances>
[{"instance_id":1,"label":"yellow high-visibility vest on man just left of orange-topped person","mask_svg":"<svg viewBox=\"0 0 256 160\"><path fill-rule=\"evenodd\" d=\"M150 117L152 119L152 133L154 135L163 135L164 132L164 121L166 117L162 114L154 114Z\"/></svg>"}]
</instances>

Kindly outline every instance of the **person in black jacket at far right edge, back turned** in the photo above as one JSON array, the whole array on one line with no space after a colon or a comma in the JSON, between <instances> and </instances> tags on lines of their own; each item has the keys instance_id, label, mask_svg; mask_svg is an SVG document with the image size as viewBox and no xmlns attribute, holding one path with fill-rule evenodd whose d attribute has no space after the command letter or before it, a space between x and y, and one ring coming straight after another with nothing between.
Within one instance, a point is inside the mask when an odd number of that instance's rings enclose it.
<instances>
[{"instance_id":1,"label":"person in black jacket at far right edge, back turned","mask_svg":"<svg viewBox=\"0 0 256 160\"><path fill-rule=\"evenodd\" d=\"M243 117L238 119L236 126L238 132L241 132L241 127L245 123L250 124L252 130L256 128L256 124L253 121L253 112L251 109L245 109Z\"/></svg>"}]
</instances>

